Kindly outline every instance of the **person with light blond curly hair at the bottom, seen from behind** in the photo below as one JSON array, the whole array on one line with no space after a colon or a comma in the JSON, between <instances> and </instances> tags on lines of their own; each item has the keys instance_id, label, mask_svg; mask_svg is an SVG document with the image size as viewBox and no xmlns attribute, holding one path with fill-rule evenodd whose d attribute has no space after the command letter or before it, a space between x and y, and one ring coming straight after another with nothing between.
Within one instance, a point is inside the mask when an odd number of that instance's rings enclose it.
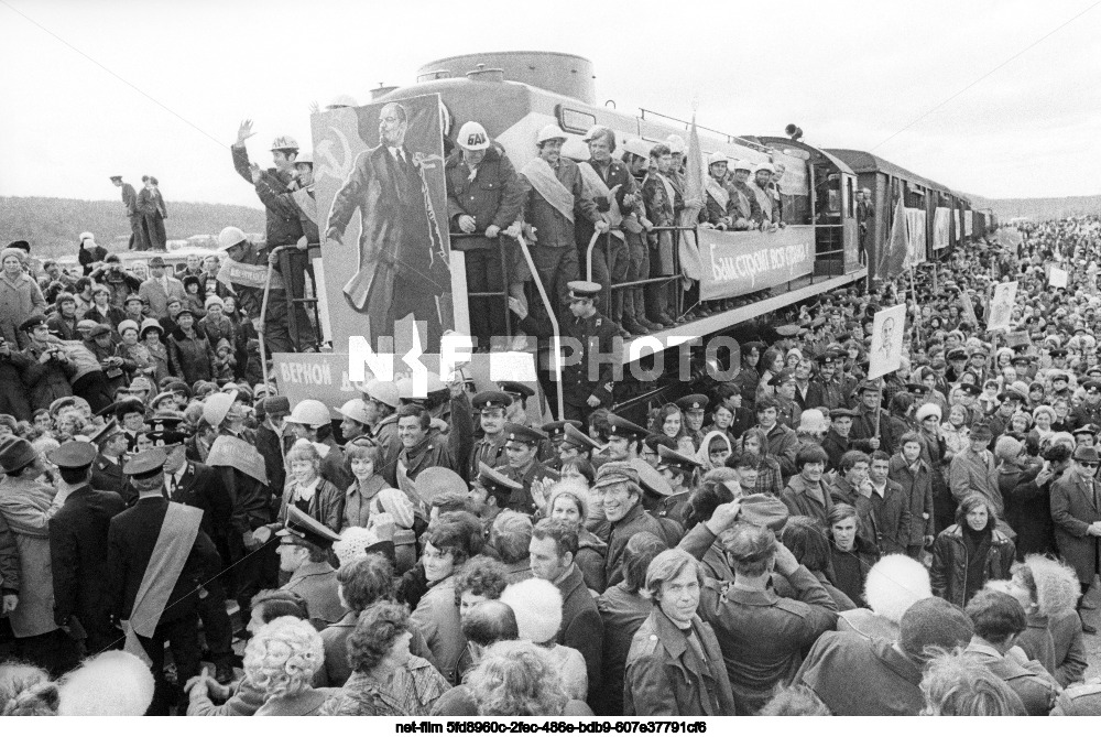
<instances>
[{"instance_id":1,"label":"person with light blond curly hair at the bottom, seen from behind","mask_svg":"<svg viewBox=\"0 0 1101 737\"><path fill-rule=\"evenodd\" d=\"M331 695L314 689L314 673L325 661L321 636L297 617L279 617L249 640L244 675L263 694L255 716L313 716Z\"/></svg>"}]
</instances>

